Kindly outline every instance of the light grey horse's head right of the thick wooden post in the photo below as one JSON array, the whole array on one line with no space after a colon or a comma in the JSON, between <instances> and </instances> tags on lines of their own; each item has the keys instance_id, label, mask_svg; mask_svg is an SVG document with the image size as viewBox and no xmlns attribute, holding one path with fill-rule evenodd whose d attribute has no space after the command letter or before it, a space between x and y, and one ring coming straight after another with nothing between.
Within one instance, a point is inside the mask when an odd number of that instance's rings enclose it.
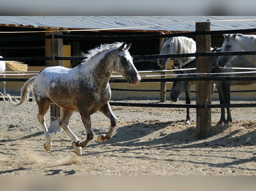
<instances>
[{"instance_id":1,"label":"light grey horse's head right of the thick wooden post","mask_svg":"<svg viewBox=\"0 0 256 191\"><path fill-rule=\"evenodd\" d=\"M231 52L231 51L242 51L244 48L241 46L240 37L243 34L224 34L224 41L222 44L221 52ZM219 67L225 67L227 63L231 62L238 55L232 56L219 56L217 60L217 65Z\"/></svg>"}]
</instances>

